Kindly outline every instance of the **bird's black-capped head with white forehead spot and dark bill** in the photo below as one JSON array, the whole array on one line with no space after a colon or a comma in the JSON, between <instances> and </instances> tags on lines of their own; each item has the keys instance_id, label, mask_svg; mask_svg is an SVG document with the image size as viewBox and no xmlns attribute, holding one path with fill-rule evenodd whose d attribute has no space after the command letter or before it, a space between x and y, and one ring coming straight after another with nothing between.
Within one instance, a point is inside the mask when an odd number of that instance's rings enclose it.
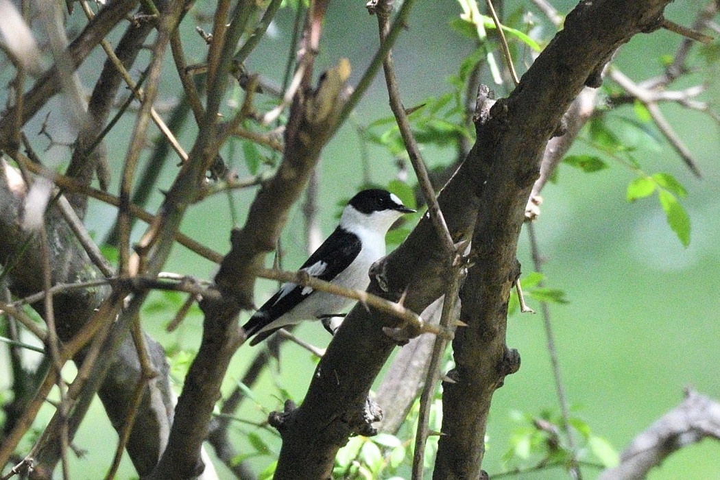
<instances>
[{"instance_id":1,"label":"bird's black-capped head with white forehead spot and dark bill","mask_svg":"<svg viewBox=\"0 0 720 480\"><path fill-rule=\"evenodd\" d=\"M340 226L346 230L363 228L384 234L395 220L413 212L415 210L405 207L397 195L387 190L363 190L348 201Z\"/></svg>"}]
</instances>

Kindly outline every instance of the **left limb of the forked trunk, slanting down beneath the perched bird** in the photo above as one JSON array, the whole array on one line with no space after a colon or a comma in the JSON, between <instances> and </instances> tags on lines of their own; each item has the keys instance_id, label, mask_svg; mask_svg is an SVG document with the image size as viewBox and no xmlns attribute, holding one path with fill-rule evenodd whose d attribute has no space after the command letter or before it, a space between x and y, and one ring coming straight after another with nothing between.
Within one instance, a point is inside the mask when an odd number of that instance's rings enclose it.
<instances>
[{"instance_id":1,"label":"left limb of the forked trunk, slanting down beneath the perched bird","mask_svg":"<svg viewBox=\"0 0 720 480\"><path fill-rule=\"evenodd\" d=\"M477 197L486 166L473 148L438 196L454 240L467 237L477 217ZM408 239L371 271L369 291L422 312L444 294L446 259L441 241L427 215ZM380 286L382 284L382 288ZM350 435L370 435L372 418L366 400L374 379L395 342L382 332L397 319L358 305L346 317L312 378L300 408L279 417L282 435L276 479L327 479L338 448Z\"/></svg>"}]
</instances>

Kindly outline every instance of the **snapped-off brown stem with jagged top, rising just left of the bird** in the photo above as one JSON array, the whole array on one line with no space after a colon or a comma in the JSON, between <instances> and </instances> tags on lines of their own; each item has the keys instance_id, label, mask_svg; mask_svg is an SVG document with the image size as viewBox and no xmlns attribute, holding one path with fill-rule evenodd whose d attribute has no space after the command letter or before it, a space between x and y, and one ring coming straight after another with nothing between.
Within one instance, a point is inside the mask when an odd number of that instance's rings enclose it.
<instances>
[{"instance_id":1,"label":"snapped-off brown stem with jagged top, rising just left of the bird","mask_svg":"<svg viewBox=\"0 0 720 480\"><path fill-rule=\"evenodd\" d=\"M310 82L311 67L308 59L306 82ZM230 359L245 340L238 314L241 308L251 307L256 268L263 266L266 253L275 248L289 209L300 198L328 132L337 122L349 73L348 64L341 60L317 90L303 83L294 97L282 164L258 191L246 225L233 231L232 248L215 276L219 295L205 296L200 304L205 315L202 343L185 379L168 448L150 479L188 478L202 471L199 451L220 398L220 385Z\"/></svg>"}]
</instances>

